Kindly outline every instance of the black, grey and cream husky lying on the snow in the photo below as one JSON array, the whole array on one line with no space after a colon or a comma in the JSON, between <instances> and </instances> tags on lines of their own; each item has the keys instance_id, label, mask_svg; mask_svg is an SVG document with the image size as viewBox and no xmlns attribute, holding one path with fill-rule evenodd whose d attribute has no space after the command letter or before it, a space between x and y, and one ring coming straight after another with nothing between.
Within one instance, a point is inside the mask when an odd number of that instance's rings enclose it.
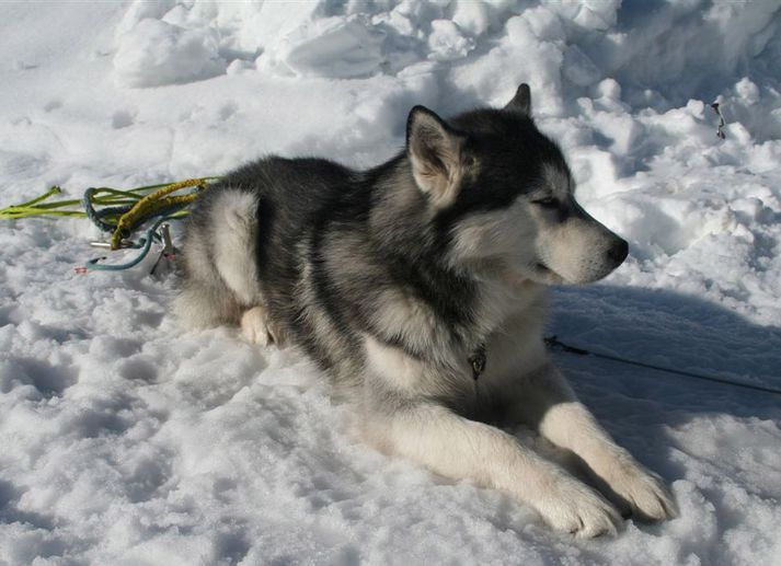
<instances>
[{"instance_id":1,"label":"black, grey and cream husky lying on the snow","mask_svg":"<svg viewBox=\"0 0 781 566\"><path fill-rule=\"evenodd\" d=\"M605 277L628 244L575 201L530 109L527 84L448 120L415 106L405 150L369 171L276 157L234 171L188 219L176 310L302 348L379 450L596 536L621 512L676 510L547 355L547 286ZM518 423L604 495L498 428Z\"/></svg>"}]
</instances>

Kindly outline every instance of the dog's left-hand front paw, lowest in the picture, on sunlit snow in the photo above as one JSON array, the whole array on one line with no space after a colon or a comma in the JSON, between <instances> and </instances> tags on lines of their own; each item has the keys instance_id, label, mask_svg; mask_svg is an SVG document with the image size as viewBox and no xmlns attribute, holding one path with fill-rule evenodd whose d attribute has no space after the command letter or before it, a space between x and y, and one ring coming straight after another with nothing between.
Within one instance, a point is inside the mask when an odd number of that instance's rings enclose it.
<instances>
[{"instance_id":1,"label":"dog's left-hand front paw, lowest in the picture, on sunlit snow","mask_svg":"<svg viewBox=\"0 0 781 566\"><path fill-rule=\"evenodd\" d=\"M553 529L577 536L615 535L622 524L616 508L574 477L560 475L539 494L537 511Z\"/></svg>"}]
</instances>

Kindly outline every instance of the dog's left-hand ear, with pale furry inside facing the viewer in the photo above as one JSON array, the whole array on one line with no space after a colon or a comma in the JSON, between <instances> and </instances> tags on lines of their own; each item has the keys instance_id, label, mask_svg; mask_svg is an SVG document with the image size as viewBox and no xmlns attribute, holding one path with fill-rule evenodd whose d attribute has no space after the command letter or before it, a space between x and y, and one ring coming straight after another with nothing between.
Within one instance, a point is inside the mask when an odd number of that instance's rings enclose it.
<instances>
[{"instance_id":1,"label":"dog's left-hand ear, with pale furry inside facing the viewer","mask_svg":"<svg viewBox=\"0 0 781 566\"><path fill-rule=\"evenodd\" d=\"M462 175L464 136L425 106L415 106L406 120L406 154L421 190L436 206L450 204Z\"/></svg>"}]
</instances>

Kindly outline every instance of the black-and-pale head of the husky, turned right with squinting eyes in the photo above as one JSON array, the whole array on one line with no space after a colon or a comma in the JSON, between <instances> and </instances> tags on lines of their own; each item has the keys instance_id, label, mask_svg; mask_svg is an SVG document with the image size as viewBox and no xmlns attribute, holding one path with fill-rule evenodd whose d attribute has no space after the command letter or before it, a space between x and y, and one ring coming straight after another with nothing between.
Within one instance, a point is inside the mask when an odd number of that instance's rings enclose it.
<instances>
[{"instance_id":1,"label":"black-and-pale head of the husky, turned right with squinting eyes","mask_svg":"<svg viewBox=\"0 0 781 566\"><path fill-rule=\"evenodd\" d=\"M456 264L493 263L543 284L601 279L628 244L575 200L559 147L531 119L529 86L502 109L445 122L415 106L406 153Z\"/></svg>"}]
</instances>

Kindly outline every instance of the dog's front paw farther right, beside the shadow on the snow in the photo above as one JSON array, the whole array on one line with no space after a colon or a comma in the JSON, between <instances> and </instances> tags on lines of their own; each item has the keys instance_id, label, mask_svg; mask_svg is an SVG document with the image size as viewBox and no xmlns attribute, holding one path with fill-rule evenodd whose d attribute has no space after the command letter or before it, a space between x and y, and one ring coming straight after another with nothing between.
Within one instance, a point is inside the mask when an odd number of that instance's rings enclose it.
<instances>
[{"instance_id":1,"label":"dog's front paw farther right, beside the shadow on the snow","mask_svg":"<svg viewBox=\"0 0 781 566\"><path fill-rule=\"evenodd\" d=\"M612 466L607 483L638 519L659 521L678 515L664 481L628 454Z\"/></svg>"}]
</instances>

